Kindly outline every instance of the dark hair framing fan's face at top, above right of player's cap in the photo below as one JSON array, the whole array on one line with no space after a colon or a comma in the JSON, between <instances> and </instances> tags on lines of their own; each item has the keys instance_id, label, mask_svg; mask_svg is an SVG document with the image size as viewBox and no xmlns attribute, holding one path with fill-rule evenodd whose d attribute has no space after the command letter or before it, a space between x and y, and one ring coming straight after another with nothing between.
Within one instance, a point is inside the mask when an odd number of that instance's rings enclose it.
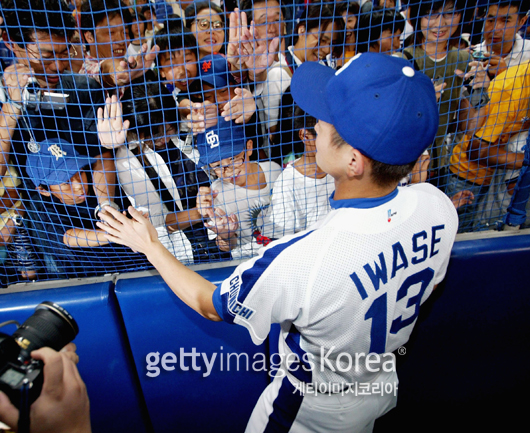
<instances>
[{"instance_id":1,"label":"dark hair framing fan's face at top, above right of player's cap","mask_svg":"<svg viewBox=\"0 0 530 433\"><path fill-rule=\"evenodd\" d=\"M454 5L455 14L461 14L460 25L452 36L454 39L460 39L462 24L470 20L474 13L477 0L410 0L409 1L409 22L414 28L414 43L423 43L423 33L421 32L421 18L428 16L430 13L442 9L448 4Z\"/></svg>"}]
</instances>

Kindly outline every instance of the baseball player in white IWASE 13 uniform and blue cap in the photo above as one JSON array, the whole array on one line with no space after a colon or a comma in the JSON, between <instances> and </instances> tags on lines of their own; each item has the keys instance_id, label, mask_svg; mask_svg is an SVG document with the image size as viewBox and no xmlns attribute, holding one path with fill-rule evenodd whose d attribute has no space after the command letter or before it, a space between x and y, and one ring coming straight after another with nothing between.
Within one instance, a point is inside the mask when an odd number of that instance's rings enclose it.
<instances>
[{"instance_id":1,"label":"baseball player in white IWASE 13 uniform and blue cap","mask_svg":"<svg viewBox=\"0 0 530 433\"><path fill-rule=\"evenodd\" d=\"M256 344L281 324L282 365L248 432L369 432L396 404L391 352L444 278L457 231L438 189L397 187L434 138L436 97L405 60L371 53L339 71L306 62L291 90L319 119L317 164L335 179L323 220L269 244L218 287L171 256L134 209L132 219L107 209L100 227L146 254L204 317L246 327Z\"/></svg>"}]
</instances>

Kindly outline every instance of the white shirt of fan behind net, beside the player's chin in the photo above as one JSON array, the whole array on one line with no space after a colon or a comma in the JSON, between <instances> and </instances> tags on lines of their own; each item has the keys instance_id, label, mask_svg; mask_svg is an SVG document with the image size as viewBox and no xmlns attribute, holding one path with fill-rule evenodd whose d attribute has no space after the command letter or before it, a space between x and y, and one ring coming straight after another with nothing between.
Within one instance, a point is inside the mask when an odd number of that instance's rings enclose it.
<instances>
[{"instance_id":1,"label":"white shirt of fan behind net, beside the player's chin","mask_svg":"<svg viewBox=\"0 0 530 433\"><path fill-rule=\"evenodd\" d=\"M273 239L298 233L329 213L329 197L335 180L329 174L321 179L304 176L294 165L287 166L276 179L269 208Z\"/></svg>"}]
</instances>

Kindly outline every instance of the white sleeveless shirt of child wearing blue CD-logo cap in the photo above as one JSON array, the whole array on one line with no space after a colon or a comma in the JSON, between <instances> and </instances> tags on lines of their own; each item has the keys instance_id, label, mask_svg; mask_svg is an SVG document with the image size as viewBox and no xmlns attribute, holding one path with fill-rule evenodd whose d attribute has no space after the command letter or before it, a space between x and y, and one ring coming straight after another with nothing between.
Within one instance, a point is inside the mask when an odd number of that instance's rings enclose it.
<instances>
[{"instance_id":1,"label":"white sleeveless shirt of child wearing blue CD-logo cap","mask_svg":"<svg viewBox=\"0 0 530 433\"><path fill-rule=\"evenodd\" d=\"M266 224L272 186L281 173L281 167L275 162L264 161L259 166L265 174L265 185L261 189L247 189L222 180L216 180L211 185L212 191L219 192L214 207L222 209L227 215L236 214L239 220L238 248L232 251L234 259L250 257L257 252L259 245L254 245L253 233L261 233Z\"/></svg>"}]
</instances>

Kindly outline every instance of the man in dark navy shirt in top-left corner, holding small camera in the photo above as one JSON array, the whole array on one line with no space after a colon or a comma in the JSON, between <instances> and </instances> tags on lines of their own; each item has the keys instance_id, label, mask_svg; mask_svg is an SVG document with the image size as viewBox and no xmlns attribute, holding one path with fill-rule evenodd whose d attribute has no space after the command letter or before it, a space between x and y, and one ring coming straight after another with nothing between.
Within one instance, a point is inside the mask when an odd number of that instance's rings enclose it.
<instances>
[{"instance_id":1,"label":"man in dark navy shirt in top-left corner, holding small camera","mask_svg":"<svg viewBox=\"0 0 530 433\"><path fill-rule=\"evenodd\" d=\"M27 155L38 151L38 143L61 138L80 155L96 158L98 201L112 200L115 168L110 152L99 145L94 109L104 104L104 94L96 81L66 73L76 52L71 41L77 25L70 9L60 0L2 0L1 4L6 46L17 63L1 77L0 176L7 170L9 155L24 182ZM41 91L67 95L62 108L25 106L22 93L30 77ZM26 192L30 197L35 194L33 187Z\"/></svg>"}]
</instances>

